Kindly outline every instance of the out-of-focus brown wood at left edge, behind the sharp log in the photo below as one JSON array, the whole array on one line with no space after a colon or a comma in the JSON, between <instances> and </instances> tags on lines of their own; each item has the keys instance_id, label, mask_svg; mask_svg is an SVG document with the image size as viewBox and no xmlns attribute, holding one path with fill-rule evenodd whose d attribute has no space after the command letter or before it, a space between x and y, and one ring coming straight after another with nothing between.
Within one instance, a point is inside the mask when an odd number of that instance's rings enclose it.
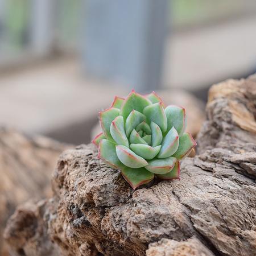
<instances>
[{"instance_id":1,"label":"out-of-focus brown wood at left edge, behind the sharp log","mask_svg":"<svg viewBox=\"0 0 256 256\"><path fill-rule=\"evenodd\" d=\"M0 255L6 221L17 205L51 195L51 174L60 153L68 146L45 137L28 137L0 127Z\"/></svg>"}]
</instances>

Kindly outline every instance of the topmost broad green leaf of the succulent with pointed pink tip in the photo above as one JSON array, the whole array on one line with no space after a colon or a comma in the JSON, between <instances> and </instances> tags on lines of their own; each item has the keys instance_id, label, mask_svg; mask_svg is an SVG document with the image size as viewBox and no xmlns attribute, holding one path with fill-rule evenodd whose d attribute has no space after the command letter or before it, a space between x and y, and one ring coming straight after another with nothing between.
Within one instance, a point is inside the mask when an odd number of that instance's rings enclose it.
<instances>
[{"instance_id":1,"label":"topmost broad green leaf of the succulent with pointed pink tip","mask_svg":"<svg viewBox=\"0 0 256 256\"><path fill-rule=\"evenodd\" d=\"M150 100L139 93L135 93L133 90L123 102L120 114L126 121L126 118L133 110L137 110L142 113L143 109L149 105L151 105Z\"/></svg>"}]
</instances>

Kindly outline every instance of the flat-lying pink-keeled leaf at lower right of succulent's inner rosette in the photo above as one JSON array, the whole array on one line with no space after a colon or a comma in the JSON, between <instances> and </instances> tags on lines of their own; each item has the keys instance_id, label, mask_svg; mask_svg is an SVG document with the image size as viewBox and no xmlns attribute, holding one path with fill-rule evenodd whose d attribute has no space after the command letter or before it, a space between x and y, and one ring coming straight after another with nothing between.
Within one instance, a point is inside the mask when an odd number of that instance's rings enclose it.
<instances>
[{"instance_id":1,"label":"flat-lying pink-keeled leaf at lower right of succulent's inner rosette","mask_svg":"<svg viewBox=\"0 0 256 256\"><path fill-rule=\"evenodd\" d=\"M153 174L167 174L174 168L176 158L154 159L148 162L145 168Z\"/></svg>"}]
</instances>

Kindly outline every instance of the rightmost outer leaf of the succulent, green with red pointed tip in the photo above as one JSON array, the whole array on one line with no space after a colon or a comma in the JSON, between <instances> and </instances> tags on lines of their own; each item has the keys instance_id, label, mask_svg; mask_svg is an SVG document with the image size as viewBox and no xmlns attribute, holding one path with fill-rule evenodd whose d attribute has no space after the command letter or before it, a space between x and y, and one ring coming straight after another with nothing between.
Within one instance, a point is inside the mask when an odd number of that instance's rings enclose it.
<instances>
[{"instance_id":1,"label":"rightmost outer leaf of the succulent, green with red pointed tip","mask_svg":"<svg viewBox=\"0 0 256 256\"><path fill-rule=\"evenodd\" d=\"M183 159L185 158L185 156L189 155L190 151L195 146L196 146L196 142L193 139L192 135L190 133L184 133L180 137L180 143L179 143L179 147L177 148L177 151L172 156L174 156L179 160Z\"/></svg>"}]
</instances>

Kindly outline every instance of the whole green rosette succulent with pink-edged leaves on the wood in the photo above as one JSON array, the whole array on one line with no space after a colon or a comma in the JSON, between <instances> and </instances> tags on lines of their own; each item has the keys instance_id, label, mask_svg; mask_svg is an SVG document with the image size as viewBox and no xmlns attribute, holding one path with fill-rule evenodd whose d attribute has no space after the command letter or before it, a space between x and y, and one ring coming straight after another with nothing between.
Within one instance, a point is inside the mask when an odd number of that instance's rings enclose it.
<instances>
[{"instance_id":1,"label":"whole green rosette succulent with pink-edged leaves on the wood","mask_svg":"<svg viewBox=\"0 0 256 256\"><path fill-rule=\"evenodd\" d=\"M180 160L196 146L186 126L185 109L170 105L155 93L141 95L134 90L115 97L109 109L100 112L102 133L94 138L98 158L121 170L133 187L148 183L154 176L179 179Z\"/></svg>"}]
</instances>

